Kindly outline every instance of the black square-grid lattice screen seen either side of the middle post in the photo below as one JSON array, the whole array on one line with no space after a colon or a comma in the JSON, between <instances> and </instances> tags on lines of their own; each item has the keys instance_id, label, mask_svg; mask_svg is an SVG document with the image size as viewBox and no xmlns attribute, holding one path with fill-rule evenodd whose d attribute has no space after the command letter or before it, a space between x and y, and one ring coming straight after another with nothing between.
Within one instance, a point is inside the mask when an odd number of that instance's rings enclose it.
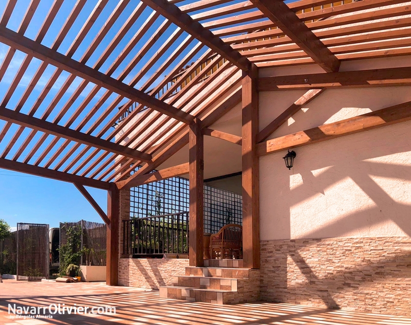
<instances>
[{"instance_id":1,"label":"black square-grid lattice screen seen either side of the middle post","mask_svg":"<svg viewBox=\"0 0 411 325\"><path fill-rule=\"evenodd\" d=\"M130 218L189 211L189 180L172 177L130 189ZM242 196L204 185L204 232L242 225Z\"/></svg>"}]
</instances>

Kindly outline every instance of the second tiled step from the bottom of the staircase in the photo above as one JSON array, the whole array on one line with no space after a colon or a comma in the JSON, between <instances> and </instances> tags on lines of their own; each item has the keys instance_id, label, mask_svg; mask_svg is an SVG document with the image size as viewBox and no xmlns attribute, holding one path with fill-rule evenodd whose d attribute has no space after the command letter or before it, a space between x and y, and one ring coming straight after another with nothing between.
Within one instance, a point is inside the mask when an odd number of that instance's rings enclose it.
<instances>
[{"instance_id":1,"label":"second tiled step from the bottom of the staircase","mask_svg":"<svg viewBox=\"0 0 411 325\"><path fill-rule=\"evenodd\" d=\"M212 278L212 277L197 277L197 276L176 276L173 277L173 285L180 287L190 287L198 289L210 290L227 290L236 292L238 281L243 279L231 278Z\"/></svg>"}]
</instances>

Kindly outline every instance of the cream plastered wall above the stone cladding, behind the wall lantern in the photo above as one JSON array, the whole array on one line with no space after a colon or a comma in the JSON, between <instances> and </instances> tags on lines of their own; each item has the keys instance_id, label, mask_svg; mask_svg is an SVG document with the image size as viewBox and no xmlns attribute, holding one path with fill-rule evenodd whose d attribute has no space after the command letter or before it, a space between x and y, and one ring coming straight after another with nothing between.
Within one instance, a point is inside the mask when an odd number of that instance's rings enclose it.
<instances>
[{"instance_id":1,"label":"cream plastered wall above the stone cladding, behind the wall lantern","mask_svg":"<svg viewBox=\"0 0 411 325\"><path fill-rule=\"evenodd\" d=\"M260 130L302 94L260 93ZM271 138L405 101L411 87L328 89ZM291 170L282 159L286 151L260 158L261 240L411 236L411 121L295 152Z\"/></svg>"}]
</instances>

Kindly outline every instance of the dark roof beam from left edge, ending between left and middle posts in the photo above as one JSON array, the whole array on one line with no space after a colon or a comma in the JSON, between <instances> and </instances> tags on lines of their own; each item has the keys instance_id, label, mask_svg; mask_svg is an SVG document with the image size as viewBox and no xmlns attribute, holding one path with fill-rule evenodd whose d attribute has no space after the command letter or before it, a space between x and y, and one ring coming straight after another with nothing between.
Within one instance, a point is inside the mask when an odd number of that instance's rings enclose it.
<instances>
[{"instance_id":1,"label":"dark roof beam from left edge, ending between left and middle posts","mask_svg":"<svg viewBox=\"0 0 411 325\"><path fill-rule=\"evenodd\" d=\"M47 134L60 136L69 140L84 143L85 145L96 147L102 150L111 151L119 155L130 158L141 159L143 161L150 161L152 155L144 152L124 147L115 142L110 142L104 139L91 136L76 130L72 130L61 125L54 124L39 118L28 116L26 114L18 113L0 106L0 119L22 125L36 131L42 131Z\"/></svg>"}]
</instances>

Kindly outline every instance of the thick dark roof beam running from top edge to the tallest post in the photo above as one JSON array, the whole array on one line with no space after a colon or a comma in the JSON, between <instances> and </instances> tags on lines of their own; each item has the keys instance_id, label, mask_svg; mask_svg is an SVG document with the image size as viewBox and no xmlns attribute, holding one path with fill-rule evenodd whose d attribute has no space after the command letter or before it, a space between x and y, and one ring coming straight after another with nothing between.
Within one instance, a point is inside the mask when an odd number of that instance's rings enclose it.
<instances>
[{"instance_id":1,"label":"thick dark roof beam running from top edge to the tallest post","mask_svg":"<svg viewBox=\"0 0 411 325\"><path fill-rule=\"evenodd\" d=\"M250 61L242 57L240 53L216 37L210 30L194 21L189 14L182 12L176 5L167 0L142 0L143 3L153 8L163 15L166 19L173 22L181 29L185 30L197 40L219 53L231 63L242 70L248 70L251 66Z\"/></svg>"}]
</instances>

